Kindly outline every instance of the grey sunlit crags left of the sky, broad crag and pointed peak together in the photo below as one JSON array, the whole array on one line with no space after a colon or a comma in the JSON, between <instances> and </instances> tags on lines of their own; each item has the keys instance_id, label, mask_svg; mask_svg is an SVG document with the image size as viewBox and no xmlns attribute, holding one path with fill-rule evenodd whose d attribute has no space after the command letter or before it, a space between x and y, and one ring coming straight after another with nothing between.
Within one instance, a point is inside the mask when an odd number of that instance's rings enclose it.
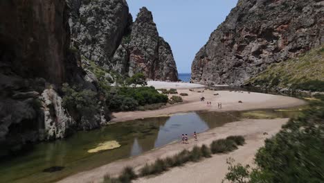
<instances>
[{"instance_id":1,"label":"grey sunlit crags left of the sky, broad crag and pointed peak together","mask_svg":"<svg viewBox=\"0 0 324 183\"><path fill-rule=\"evenodd\" d=\"M178 80L167 42L159 37L152 13L142 8L132 22L126 1L69 0L74 45L88 60L126 76Z\"/></svg>"}]
</instances>

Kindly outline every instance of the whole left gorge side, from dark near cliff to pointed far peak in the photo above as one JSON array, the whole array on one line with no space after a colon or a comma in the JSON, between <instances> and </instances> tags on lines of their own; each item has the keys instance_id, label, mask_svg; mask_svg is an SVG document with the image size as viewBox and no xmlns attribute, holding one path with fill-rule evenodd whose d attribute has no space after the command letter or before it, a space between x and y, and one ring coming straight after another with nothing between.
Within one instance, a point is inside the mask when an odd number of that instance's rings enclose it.
<instances>
[{"instance_id":1,"label":"whole left gorge side, from dark near cliff to pointed far peak","mask_svg":"<svg viewBox=\"0 0 324 183\"><path fill-rule=\"evenodd\" d=\"M0 156L106 125L120 78L178 80L147 8L133 22L125 0L3 0L0 15Z\"/></svg>"}]
</instances>

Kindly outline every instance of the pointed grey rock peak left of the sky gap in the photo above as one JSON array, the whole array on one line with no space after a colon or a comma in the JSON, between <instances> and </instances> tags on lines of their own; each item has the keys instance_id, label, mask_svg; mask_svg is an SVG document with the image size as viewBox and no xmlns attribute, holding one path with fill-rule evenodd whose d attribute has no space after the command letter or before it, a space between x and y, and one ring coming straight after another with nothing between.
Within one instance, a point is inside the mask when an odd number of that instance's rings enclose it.
<instances>
[{"instance_id":1,"label":"pointed grey rock peak left of the sky gap","mask_svg":"<svg viewBox=\"0 0 324 183\"><path fill-rule=\"evenodd\" d=\"M129 49L129 76L145 73L154 80L178 80L170 45L159 37L152 12L141 8L132 26Z\"/></svg>"}]
</instances>

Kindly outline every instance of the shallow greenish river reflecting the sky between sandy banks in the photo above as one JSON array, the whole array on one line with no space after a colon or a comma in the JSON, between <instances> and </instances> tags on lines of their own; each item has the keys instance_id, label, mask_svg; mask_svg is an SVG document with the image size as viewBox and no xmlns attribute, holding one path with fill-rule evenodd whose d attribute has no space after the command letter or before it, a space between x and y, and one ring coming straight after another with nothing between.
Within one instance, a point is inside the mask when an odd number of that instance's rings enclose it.
<instances>
[{"instance_id":1,"label":"shallow greenish river reflecting the sky between sandy banks","mask_svg":"<svg viewBox=\"0 0 324 183\"><path fill-rule=\"evenodd\" d=\"M261 115L255 115L261 114ZM116 123L100 130L78 132L72 137L51 143L39 143L30 152L1 159L0 182L55 182L63 177L87 171L118 159L132 157L168 143L179 141L181 134L205 132L225 123L250 118L287 118L296 112L258 110L253 112L190 112L150 119ZM118 141L120 148L88 153L98 143ZM64 167L53 173L52 166Z\"/></svg>"}]
</instances>

